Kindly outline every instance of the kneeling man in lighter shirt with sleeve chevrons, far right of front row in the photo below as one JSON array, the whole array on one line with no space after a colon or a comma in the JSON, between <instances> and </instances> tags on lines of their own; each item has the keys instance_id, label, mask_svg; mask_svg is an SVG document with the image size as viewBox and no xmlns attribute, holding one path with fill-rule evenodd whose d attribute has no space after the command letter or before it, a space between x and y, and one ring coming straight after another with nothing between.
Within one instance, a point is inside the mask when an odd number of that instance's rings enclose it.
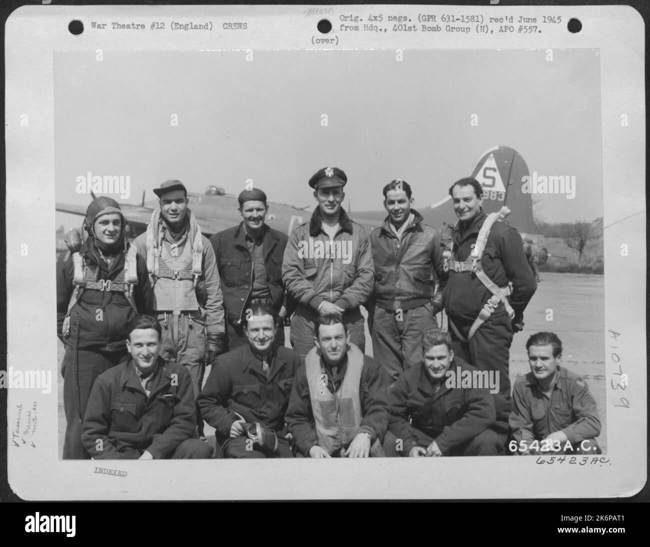
<instances>
[{"instance_id":1,"label":"kneeling man in lighter shirt with sleeve chevrons, far right of front row","mask_svg":"<svg viewBox=\"0 0 650 547\"><path fill-rule=\"evenodd\" d=\"M512 391L510 452L600 454L596 401L580 376L560 366L560 338L536 333L526 350L530 372L517 379Z\"/></svg>"}]
</instances>

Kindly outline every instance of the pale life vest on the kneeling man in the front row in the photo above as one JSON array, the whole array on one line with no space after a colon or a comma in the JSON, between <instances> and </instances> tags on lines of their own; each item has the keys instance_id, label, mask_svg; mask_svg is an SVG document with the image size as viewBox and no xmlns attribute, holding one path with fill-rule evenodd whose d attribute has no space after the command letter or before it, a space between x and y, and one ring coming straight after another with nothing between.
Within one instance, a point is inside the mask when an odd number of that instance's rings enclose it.
<instances>
[{"instance_id":1,"label":"pale life vest on the kneeling man in the front row","mask_svg":"<svg viewBox=\"0 0 650 547\"><path fill-rule=\"evenodd\" d=\"M350 344L343 382L335 394L328 389L327 374L320 362L320 351L312 348L305 357L305 373L314 415L318 443L328 453L348 448L361 426L359 383L363 370L363 353Z\"/></svg>"}]
</instances>

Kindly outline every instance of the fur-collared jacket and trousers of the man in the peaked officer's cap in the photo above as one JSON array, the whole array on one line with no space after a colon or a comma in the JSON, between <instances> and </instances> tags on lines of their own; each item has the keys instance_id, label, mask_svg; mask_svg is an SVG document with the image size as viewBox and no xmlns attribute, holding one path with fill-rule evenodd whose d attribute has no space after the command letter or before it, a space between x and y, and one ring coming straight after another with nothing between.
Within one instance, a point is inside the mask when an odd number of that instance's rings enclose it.
<instances>
[{"instance_id":1,"label":"fur-collared jacket and trousers of the man in the peaked officer's cap","mask_svg":"<svg viewBox=\"0 0 650 547\"><path fill-rule=\"evenodd\" d=\"M339 226L331 244L317 208L309 222L294 229L285 249L282 279L287 293L297 302L291 320L291 345L303 362L314 347L314 325L322 301L343 309L350 342L362 352L365 349L364 320L359 306L368 301L374 286L370 239L344 210ZM326 255L318 253L328 248L331 251Z\"/></svg>"}]
</instances>

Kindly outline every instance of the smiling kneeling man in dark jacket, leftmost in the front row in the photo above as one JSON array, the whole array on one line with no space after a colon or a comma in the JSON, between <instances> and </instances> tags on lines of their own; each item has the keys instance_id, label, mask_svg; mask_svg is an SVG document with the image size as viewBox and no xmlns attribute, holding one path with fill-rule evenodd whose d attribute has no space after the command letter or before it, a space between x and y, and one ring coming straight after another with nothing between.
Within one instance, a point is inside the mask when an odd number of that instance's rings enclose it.
<instances>
[{"instance_id":1,"label":"smiling kneeling man in dark jacket, leftmost in the front row","mask_svg":"<svg viewBox=\"0 0 650 547\"><path fill-rule=\"evenodd\" d=\"M159 357L158 320L136 316L127 333L131 355L92 387L81 429L86 450L94 459L211 457L211 448L193 438L196 410L187 369Z\"/></svg>"}]
</instances>

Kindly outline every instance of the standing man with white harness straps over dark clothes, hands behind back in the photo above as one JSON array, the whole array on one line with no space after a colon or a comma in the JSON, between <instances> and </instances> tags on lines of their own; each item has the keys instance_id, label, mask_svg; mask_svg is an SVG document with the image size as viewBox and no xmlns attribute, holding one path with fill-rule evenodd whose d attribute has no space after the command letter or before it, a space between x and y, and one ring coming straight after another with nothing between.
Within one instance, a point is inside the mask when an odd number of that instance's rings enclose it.
<instances>
[{"instance_id":1,"label":"standing man with white harness straps over dark clothes, hands behind back","mask_svg":"<svg viewBox=\"0 0 650 547\"><path fill-rule=\"evenodd\" d=\"M509 211L487 215L483 190L476 179L456 181L449 194L458 222L451 248L445 251L449 279L443 304L455 355L478 370L499 374L493 429L505 444L510 414L510 345L513 333L523 329L523 312L537 284L521 236L507 223L497 222Z\"/></svg>"}]
</instances>

